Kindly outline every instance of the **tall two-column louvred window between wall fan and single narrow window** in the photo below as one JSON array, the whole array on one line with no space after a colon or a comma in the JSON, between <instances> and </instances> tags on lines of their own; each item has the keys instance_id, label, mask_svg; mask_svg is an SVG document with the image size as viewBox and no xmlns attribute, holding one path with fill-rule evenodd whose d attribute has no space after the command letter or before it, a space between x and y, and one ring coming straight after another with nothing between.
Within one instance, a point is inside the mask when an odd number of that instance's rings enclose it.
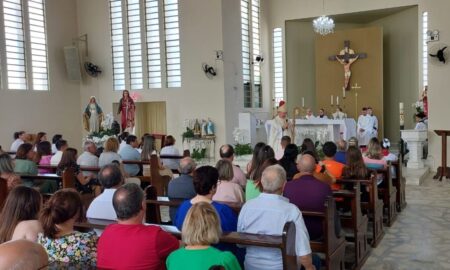
<instances>
[{"instance_id":1,"label":"tall two-column louvred window between wall fan and single narrow window","mask_svg":"<svg viewBox=\"0 0 450 270\"><path fill-rule=\"evenodd\" d=\"M256 57L261 55L260 0L241 0L242 77L244 107L262 107L261 70Z\"/></svg>"}]
</instances>

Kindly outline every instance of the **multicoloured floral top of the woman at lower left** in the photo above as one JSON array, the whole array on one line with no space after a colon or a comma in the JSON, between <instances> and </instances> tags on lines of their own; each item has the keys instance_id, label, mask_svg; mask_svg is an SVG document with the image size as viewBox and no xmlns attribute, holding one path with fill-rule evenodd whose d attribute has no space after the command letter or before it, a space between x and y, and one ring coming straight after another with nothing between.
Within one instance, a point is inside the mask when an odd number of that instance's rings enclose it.
<instances>
[{"instance_id":1,"label":"multicoloured floral top of the woman at lower left","mask_svg":"<svg viewBox=\"0 0 450 270\"><path fill-rule=\"evenodd\" d=\"M95 266L97 263L97 240L98 236L95 232L73 232L56 239L40 233L37 242L47 251L49 263L82 263Z\"/></svg>"}]
</instances>

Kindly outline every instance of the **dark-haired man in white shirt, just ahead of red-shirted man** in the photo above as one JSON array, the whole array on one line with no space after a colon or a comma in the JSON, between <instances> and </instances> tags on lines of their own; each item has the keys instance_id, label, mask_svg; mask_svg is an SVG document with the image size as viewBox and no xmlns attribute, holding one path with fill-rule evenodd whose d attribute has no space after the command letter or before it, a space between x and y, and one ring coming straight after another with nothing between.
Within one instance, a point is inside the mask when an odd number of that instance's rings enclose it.
<instances>
[{"instance_id":1,"label":"dark-haired man in white shirt, just ahead of red-shirted man","mask_svg":"<svg viewBox=\"0 0 450 270\"><path fill-rule=\"evenodd\" d=\"M116 220L117 215L112 204L112 198L116 189L123 185L124 181L119 166L116 164L107 164L103 166L98 173L98 180L105 190L89 205L86 217Z\"/></svg>"}]
</instances>

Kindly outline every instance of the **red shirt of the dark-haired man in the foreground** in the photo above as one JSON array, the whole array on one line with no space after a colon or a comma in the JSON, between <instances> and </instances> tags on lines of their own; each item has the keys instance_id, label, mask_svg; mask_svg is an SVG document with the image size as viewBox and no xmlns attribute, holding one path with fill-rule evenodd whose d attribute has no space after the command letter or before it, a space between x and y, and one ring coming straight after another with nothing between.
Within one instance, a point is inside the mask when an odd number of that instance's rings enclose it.
<instances>
[{"instance_id":1,"label":"red shirt of the dark-haired man in the foreground","mask_svg":"<svg viewBox=\"0 0 450 270\"><path fill-rule=\"evenodd\" d=\"M112 224L98 241L97 267L162 270L179 241L158 226Z\"/></svg>"}]
</instances>

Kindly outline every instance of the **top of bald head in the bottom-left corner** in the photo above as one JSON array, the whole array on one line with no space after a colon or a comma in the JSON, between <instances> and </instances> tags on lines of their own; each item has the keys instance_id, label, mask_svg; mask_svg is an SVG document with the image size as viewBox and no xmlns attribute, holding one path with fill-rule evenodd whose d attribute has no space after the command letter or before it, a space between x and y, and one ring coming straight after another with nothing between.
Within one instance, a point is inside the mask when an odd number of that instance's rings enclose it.
<instances>
[{"instance_id":1,"label":"top of bald head in the bottom-left corner","mask_svg":"<svg viewBox=\"0 0 450 270\"><path fill-rule=\"evenodd\" d=\"M37 243L15 240L0 245L0 269L36 270L47 265L47 252Z\"/></svg>"}]
</instances>

